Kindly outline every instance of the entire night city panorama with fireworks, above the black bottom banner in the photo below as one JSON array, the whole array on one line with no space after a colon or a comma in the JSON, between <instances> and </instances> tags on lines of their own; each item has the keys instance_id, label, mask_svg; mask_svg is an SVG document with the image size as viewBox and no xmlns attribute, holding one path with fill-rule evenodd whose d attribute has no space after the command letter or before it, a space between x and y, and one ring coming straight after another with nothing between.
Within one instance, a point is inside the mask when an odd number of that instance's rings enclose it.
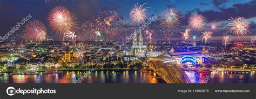
<instances>
[{"instance_id":1,"label":"entire night city panorama with fireworks, above the black bottom banner","mask_svg":"<svg viewBox=\"0 0 256 99\"><path fill-rule=\"evenodd\" d=\"M256 83L254 5L1 1L0 83Z\"/></svg>"}]
</instances>

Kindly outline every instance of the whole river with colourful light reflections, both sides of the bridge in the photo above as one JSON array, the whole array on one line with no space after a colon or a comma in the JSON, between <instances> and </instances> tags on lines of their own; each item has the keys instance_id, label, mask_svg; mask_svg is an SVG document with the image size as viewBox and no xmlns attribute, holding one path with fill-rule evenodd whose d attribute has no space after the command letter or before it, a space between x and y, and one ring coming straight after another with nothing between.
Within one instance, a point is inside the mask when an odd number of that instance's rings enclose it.
<instances>
[{"instance_id":1,"label":"whole river with colourful light reflections, both sides of the bridge","mask_svg":"<svg viewBox=\"0 0 256 99\"><path fill-rule=\"evenodd\" d=\"M192 83L205 82L211 73L185 71ZM84 75L84 77L81 77ZM65 71L59 74L11 75L4 73L0 83L75 83L83 78L81 83L165 83L159 77L154 78L152 71L94 71L88 76L84 71ZM255 73L248 72L218 72L207 83L256 83Z\"/></svg>"}]
</instances>

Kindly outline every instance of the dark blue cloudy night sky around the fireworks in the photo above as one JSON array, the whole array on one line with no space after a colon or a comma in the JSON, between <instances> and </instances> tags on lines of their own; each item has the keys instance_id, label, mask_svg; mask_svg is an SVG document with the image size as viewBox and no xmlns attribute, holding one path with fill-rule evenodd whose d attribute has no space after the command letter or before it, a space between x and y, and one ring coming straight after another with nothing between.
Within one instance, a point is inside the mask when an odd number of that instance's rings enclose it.
<instances>
[{"instance_id":1,"label":"dark blue cloudy night sky around the fireworks","mask_svg":"<svg viewBox=\"0 0 256 99\"><path fill-rule=\"evenodd\" d=\"M187 16L200 13L207 18L208 28L215 23L218 28L214 36L223 36L227 30L227 19L231 17L245 17L250 22L250 34L256 35L256 0L0 0L0 36L8 33L16 22L31 14L32 19L43 21L48 26L47 16L50 10L63 5L75 16L79 24L103 10L116 10L120 17L129 18L134 4L144 4L147 16L160 14L170 7L181 11L185 16L183 27L187 25ZM173 2L174 1L174 2ZM207 27L206 27L207 28ZM50 28L48 27L50 30ZM181 28L184 31L184 28Z\"/></svg>"}]
</instances>

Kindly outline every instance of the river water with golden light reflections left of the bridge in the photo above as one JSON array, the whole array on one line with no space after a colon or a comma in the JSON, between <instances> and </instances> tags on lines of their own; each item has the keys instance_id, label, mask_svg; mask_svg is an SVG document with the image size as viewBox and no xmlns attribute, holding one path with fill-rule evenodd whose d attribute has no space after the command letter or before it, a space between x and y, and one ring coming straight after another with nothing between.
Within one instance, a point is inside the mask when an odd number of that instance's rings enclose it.
<instances>
[{"instance_id":1,"label":"river water with golden light reflections left of the bridge","mask_svg":"<svg viewBox=\"0 0 256 99\"><path fill-rule=\"evenodd\" d=\"M0 83L75 83L85 76L84 71L66 71L59 74L10 75L5 73ZM82 83L164 83L162 79L152 78L150 73L139 71L95 71L86 76Z\"/></svg>"}]
</instances>

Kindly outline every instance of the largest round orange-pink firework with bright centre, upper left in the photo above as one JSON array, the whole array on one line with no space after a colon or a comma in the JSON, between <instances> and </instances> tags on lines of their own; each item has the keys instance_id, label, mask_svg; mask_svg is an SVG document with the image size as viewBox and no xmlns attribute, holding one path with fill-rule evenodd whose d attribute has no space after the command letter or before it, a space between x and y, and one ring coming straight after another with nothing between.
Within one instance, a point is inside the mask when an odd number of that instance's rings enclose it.
<instances>
[{"instance_id":1,"label":"largest round orange-pink firework with bright centre, upper left","mask_svg":"<svg viewBox=\"0 0 256 99\"><path fill-rule=\"evenodd\" d=\"M75 16L65 7L56 6L49 13L49 25L58 35L65 38L65 33L75 31L77 22Z\"/></svg>"}]
</instances>

